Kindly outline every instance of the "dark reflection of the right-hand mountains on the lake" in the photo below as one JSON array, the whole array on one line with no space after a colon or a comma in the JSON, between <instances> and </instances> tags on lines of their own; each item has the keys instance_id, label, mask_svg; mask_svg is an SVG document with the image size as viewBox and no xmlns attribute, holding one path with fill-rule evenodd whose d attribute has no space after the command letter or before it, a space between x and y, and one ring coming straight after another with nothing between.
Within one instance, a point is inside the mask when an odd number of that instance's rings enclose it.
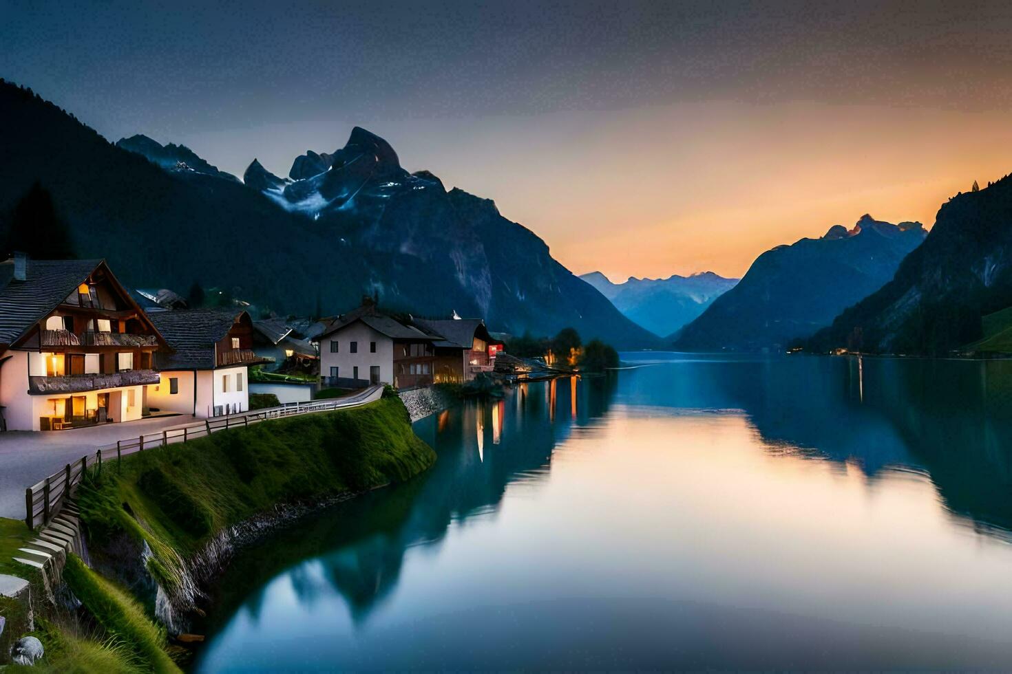
<instances>
[{"instance_id":1,"label":"dark reflection of the right-hand mountains on the lake","mask_svg":"<svg viewBox=\"0 0 1012 674\"><path fill-rule=\"evenodd\" d=\"M1012 529L1010 361L694 358L629 371L621 393L616 402L634 407L742 409L771 451L851 463L872 479L924 472L954 513Z\"/></svg>"}]
</instances>

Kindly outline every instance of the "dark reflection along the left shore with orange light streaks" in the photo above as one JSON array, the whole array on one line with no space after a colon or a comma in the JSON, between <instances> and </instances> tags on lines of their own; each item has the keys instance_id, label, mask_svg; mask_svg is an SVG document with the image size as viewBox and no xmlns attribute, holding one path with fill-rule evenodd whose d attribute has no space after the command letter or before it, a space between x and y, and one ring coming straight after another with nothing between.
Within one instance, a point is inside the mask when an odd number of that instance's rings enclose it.
<instances>
[{"instance_id":1,"label":"dark reflection along the left shore with orange light streaks","mask_svg":"<svg viewBox=\"0 0 1012 674\"><path fill-rule=\"evenodd\" d=\"M240 605L256 619L265 581L285 569L300 601L312 605L336 590L347 600L353 620L365 619L396 586L408 549L438 546L451 522L495 512L511 482L544 478L553 449L574 424L590 426L606 413L614 379L587 381L564 380L561 400L556 381L522 384L502 400L471 401L417 422L415 432L439 456L432 469L409 483L330 508L242 555L221 583L227 592L216 598L219 620ZM507 404L515 412L508 422ZM557 423L556 406L572 414L560 415ZM315 555L313 564L300 564Z\"/></svg>"}]
</instances>

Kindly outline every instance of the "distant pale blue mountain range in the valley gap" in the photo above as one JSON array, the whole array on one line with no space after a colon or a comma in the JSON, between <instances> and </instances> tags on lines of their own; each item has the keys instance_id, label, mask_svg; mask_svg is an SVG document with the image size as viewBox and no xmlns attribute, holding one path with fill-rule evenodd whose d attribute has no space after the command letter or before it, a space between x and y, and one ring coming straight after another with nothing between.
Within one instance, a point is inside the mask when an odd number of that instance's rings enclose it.
<instances>
[{"instance_id":1,"label":"distant pale blue mountain range in the valley gap","mask_svg":"<svg viewBox=\"0 0 1012 674\"><path fill-rule=\"evenodd\" d=\"M657 335L671 334L689 322L714 299L735 287L738 279L713 272L666 279L638 279L612 283L604 274L591 272L581 279L597 288L627 318Z\"/></svg>"}]
</instances>

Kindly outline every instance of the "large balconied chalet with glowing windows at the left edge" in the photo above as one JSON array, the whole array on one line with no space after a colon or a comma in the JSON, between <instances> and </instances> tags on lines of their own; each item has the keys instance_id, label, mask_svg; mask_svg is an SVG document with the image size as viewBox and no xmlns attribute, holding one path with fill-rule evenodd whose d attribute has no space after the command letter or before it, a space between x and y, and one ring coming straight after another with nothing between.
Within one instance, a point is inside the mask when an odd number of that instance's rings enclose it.
<instances>
[{"instance_id":1,"label":"large balconied chalet with glowing windows at the left edge","mask_svg":"<svg viewBox=\"0 0 1012 674\"><path fill-rule=\"evenodd\" d=\"M141 418L165 340L101 260L0 263L0 406L10 430Z\"/></svg>"}]
</instances>

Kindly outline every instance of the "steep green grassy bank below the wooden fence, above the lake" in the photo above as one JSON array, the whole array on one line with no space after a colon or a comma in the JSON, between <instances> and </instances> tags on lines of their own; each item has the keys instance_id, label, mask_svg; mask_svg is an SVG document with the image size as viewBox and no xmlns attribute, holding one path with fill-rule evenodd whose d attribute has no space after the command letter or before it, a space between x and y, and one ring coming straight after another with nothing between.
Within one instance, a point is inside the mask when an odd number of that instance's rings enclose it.
<instances>
[{"instance_id":1,"label":"steep green grassy bank below the wooden fence, above the lake","mask_svg":"<svg viewBox=\"0 0 1012 674\"><path fill-rule=\"evenodd\" d=\"M404 404L388 396L145 451L118 468L107 463L86 480L78 505L93 548L123 533L146 541L148 571L171 591L181 560L217 532L277 503L407 480L434 460Z\"/></svg>"}]
</instances>

